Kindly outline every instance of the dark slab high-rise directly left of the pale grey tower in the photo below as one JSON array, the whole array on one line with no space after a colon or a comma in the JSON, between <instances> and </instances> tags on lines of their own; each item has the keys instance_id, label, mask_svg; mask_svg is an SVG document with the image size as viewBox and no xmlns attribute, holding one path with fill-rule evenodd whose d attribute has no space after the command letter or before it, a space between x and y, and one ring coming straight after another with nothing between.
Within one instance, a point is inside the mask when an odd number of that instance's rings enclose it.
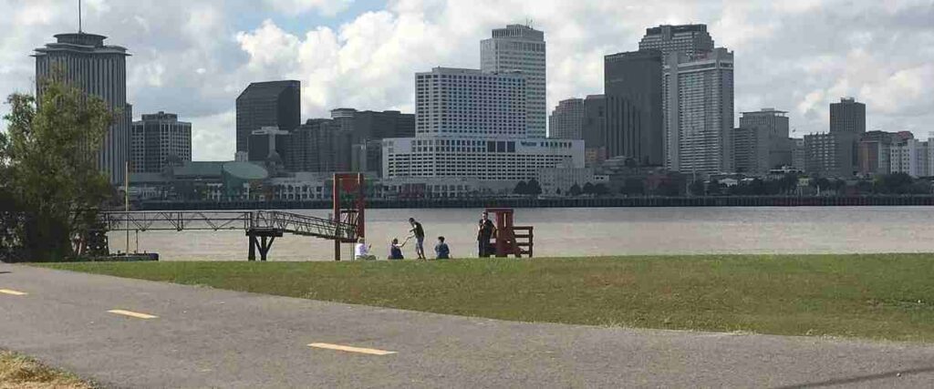
<instances>
[{"instance_id":1,"label":"dark slab high-rise directly left of the pale grey tower","mask_svg":"<svg viewBox=\"0 0 934 389\"><path fill-rule=\"evenodd\" d=\"M658 49L604 57L607 158L626 157L643 166L664 163L661 75Z\"/></svg>"}]
</instances>

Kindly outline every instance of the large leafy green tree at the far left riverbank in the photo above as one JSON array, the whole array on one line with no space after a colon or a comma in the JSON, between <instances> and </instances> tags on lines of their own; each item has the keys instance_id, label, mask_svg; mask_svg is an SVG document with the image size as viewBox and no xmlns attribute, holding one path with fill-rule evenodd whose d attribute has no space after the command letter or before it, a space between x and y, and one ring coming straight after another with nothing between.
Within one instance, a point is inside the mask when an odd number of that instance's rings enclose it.
<instances>
[{"instance_id":1,"label":"large leafy green tree at the far left riverbank","mask_svg":"<svg viewBox=\"0 0 934 389\"><path fill-rule=\"evenodd\" d=\"M0 170L19 217L8 243L25 260L80 254L73 243L92 228L97 209L112 195L96 160L114 113L100 98L56 78L40 80L41 101L21 93L7 98Z\"/></svg>"}]
</instances>

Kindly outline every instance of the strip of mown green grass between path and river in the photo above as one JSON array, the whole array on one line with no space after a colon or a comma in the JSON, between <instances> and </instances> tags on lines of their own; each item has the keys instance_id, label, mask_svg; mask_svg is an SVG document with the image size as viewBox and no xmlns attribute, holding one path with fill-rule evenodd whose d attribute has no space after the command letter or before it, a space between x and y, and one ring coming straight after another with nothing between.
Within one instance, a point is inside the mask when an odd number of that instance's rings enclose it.
<instances>
[{"instance_id":1,"label":"strip of mown green grass between path and river","mask_svg":"<svg viewBox=\"0 0 934 389\"><path fill-rule=\"evenodd\" d=\"M930 255L43 266L528 322L934 341Z\"/></svg>"}]
</instances>

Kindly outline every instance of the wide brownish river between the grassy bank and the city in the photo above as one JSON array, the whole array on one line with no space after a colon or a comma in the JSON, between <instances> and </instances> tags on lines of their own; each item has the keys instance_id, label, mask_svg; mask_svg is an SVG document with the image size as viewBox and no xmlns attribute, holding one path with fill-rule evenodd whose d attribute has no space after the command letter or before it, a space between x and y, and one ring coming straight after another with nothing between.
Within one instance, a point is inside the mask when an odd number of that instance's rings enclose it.
<instances>
[{"instance_id":1,"label":"wide brownish river between the grassy bank and the city","mask_svg":"<svg viewBox=\"0 0 934 389\"><path fill-rule=\"evenodd\" d=\"M328 211L290 211L326 217ZM386 257L393 237L403 240L408 217L428 235L446 237L453 257L476 255L480 209L375 209L366 213L366 236ZM535 208L517 209L517 225L531 225L536 257L643 254L824 254L934 252L934 208L735 207L735 208ZM130 248L136 247L130 233ZM243 231L140 232L139 251L160 260L246 260ZM124 232L109 234L112 252L125 250ZM415 257L414 244L404 248ZM344 258L350 257L344 245ZM330 260L333 243L316 238L276 239L269 260Z\"/></svg>"}]
</instances>

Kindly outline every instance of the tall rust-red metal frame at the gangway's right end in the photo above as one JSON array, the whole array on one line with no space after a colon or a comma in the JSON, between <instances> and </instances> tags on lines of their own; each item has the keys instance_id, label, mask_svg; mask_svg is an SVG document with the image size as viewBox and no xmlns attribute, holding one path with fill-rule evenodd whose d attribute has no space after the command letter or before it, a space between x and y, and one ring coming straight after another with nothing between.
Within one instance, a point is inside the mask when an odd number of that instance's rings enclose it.
<instances>
[{"instance_id":1,"label":"tall rust-red metal frame at the gangway's right end","mask_svg":"<svg viewBox=\"0 0 934 389\"><path fill-rule=\"evenodd\" d=\"M334 239L334 260L341 260L341 243L356 243L365 235L364 211L366 208L366 198L363 193L363 174L361 173L336 173L333 180L333 217L338 226L341 223L349 223L356 226L352 239L342 240ZM349 204L341 201L341 194L353 194L354 200ZM334 234L334 236L342 236Z\"/></svg>"}]
</instances>

